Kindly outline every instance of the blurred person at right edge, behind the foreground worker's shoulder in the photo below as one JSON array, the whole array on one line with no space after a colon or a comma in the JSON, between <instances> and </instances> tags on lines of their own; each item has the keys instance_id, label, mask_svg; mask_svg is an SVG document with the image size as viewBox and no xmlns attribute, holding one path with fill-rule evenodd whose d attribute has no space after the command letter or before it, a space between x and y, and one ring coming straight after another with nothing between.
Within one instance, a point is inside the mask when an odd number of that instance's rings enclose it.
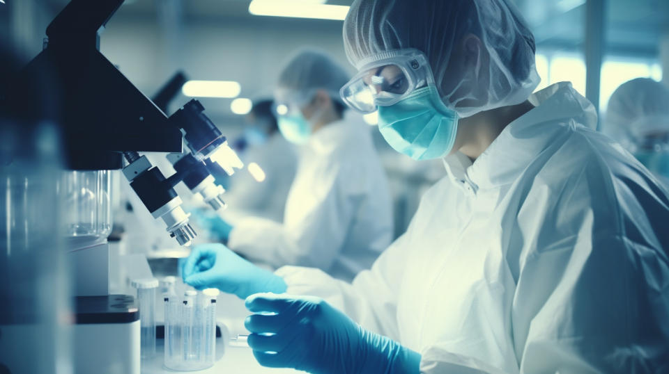
<instances>
[{"instance_id":1,"label":"blurred person at right edge, behind the foreground worker's shoulder","mask_svg":"<svg viewBox=\"0 0 669 374\"><path fill-rule=\"evenodd\" d=\"M669 88L648 78L623 83L608 101L603 132L669 186Z\"/></svg>"}]
</instances>

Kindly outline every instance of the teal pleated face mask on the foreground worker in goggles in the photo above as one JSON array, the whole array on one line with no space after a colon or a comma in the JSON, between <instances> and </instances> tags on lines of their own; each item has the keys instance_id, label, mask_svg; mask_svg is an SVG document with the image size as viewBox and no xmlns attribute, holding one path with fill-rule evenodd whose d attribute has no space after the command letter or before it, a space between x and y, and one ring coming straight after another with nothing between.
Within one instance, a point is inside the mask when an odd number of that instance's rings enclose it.
<instances>
[{"instance_id":1,"label":"teal pleated face mask on the foreground worker in goggles","mask_svg":"<svg viewBox=\"0 0 669 374\"><path fill-rule=\"evenodd\" d=\"M427 86L397 104L378 106L378 129L397 152L429 160L451 152L458 115L444 105L434 86Z\"/></svg>"}]
</instances>

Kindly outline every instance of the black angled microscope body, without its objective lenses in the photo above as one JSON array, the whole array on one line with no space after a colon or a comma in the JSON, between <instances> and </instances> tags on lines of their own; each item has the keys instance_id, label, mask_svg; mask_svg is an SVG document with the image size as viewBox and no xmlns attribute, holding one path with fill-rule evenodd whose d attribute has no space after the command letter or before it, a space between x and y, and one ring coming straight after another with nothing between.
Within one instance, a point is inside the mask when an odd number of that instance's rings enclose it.
<instances>
[{"instance_id":1,"label":"black angled microscope body, without its objective lenses","mask_svg":"<svg viewBox=\"0 0 669 374\"><path fill-rule=\"evenodd\" d=\"M43 51L8 85L6 106L25 116L40 103L24 83L52 83L50 104L72 170L120 169L122 151L181 149L179 129L99 51L100 33L122 3L70 1L47 27Z\"/></svg>"}]
</instances>

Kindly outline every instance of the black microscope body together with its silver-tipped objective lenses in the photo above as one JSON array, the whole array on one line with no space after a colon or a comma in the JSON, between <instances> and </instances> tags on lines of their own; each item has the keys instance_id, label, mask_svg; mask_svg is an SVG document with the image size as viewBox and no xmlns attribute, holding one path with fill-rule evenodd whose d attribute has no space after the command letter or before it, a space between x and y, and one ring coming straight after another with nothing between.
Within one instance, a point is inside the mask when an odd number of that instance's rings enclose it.
<instances>
[{"instance_id":1,"label":"black microscope body together with its silver-tipped objective lenses","mask_svg":"<svg viewBox=\"0 0 669 374\"><path fill-rule=\"evenodd\" d=\"M121 3L70 1L49 24L43 51L8 85L12 95L3 98L3 107L29 116L43 105L38 94L44 92L27 90L26 82L54 82L49 93L59 106L54 120L63 133L67 168L121 169L125 156L133 190L184 245L196 234L173 189L183 176L167 179L137 152L181 152L185 141L199 161L217 162L229 174L242 165L197 100L167 117L100 53L100 32Z\"/></svg>"}]
</instances>

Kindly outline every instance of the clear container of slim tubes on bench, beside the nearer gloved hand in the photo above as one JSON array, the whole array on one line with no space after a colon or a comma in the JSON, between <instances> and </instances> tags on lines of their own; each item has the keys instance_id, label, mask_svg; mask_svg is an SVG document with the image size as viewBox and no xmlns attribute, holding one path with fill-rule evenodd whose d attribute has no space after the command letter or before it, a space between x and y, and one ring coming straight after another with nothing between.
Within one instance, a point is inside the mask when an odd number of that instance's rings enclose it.
<instances>
[{"instance_id":1,"label":"clear container of slim tubes on bench, beside the nearer gloved hand","mask_svg":"<svg viewBox=\"0 0 669 374\"><path fill-rule=\"evenodd\" d=\"M213 366L216 350L217 291L185 291L165 296L164 366L178 371Z\"/></svg>"}]
</instances>

